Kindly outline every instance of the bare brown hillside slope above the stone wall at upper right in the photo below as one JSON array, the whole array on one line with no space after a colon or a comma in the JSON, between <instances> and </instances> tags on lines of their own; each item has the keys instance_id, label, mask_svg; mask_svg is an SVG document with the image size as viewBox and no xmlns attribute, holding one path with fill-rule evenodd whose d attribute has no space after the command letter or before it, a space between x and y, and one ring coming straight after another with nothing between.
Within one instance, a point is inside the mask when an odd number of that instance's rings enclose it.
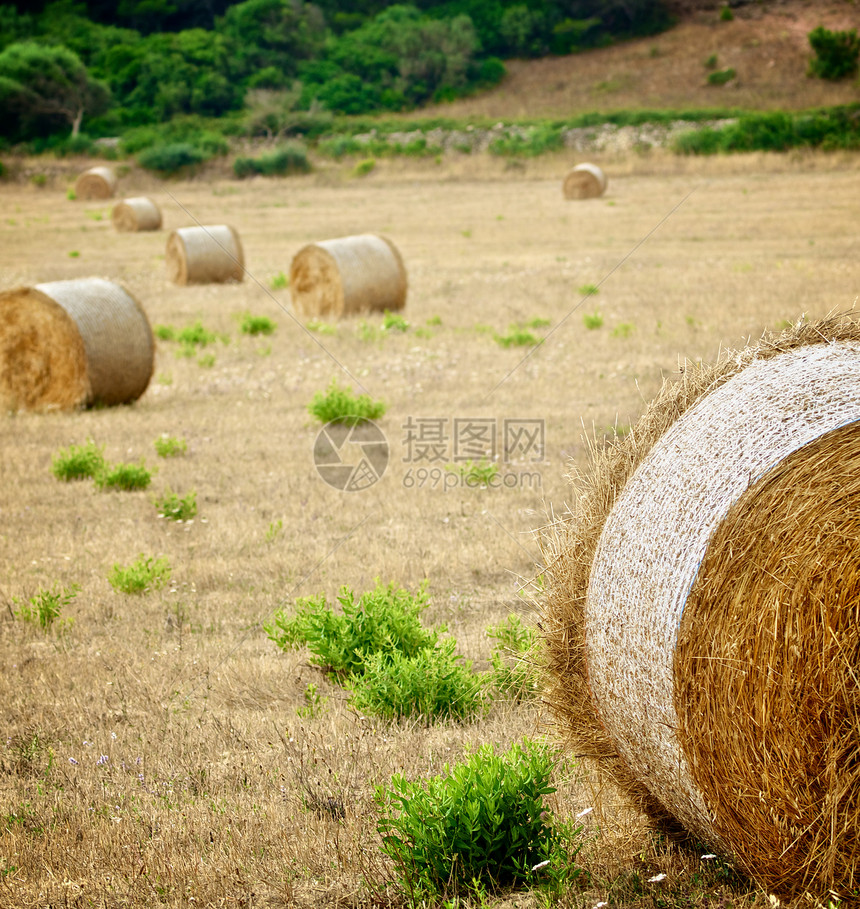
<instances>
[{"instance_id":1,"label":"bare brown hillside slope above the stone wall at upper right","mask_svg":"<svg viewBox=\"0 0 860 909\"><path fill-rule=\"evenodd\" d=\"M452 117L566 117L585 111L642 108L743 107L798 110L860 101L855 80L839 83L806 75L807 34L817 25L860 27L860 5L850 0L786 0L690 12L672 30L616 47L568 57L512 60L504 82L484 95L425 108ZM707 83L705 60L732 67L725 86ZM417 116L417 115L416 115Z\"/></svg>"}]
</instances>

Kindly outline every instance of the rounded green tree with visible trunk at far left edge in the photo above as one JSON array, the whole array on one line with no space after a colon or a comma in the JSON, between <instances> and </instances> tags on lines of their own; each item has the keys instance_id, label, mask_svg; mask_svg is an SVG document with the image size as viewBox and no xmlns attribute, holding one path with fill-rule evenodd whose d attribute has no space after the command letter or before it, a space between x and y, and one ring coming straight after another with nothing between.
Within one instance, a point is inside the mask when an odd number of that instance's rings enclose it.
<instances>
[{"instance_id":1,"label":"rounded green tree with visible trunk at far left edge","mask_svg":"<svg viewBox=\"0 0 860 909\"><path fill-rule=\"evenodd\" d=\"M0 53L0 119L17 122L16 138L57 121L68 123L77 136L84 114L104 113L110 100L107 87L68 48L22 41Z\"/></svg>"}]
</instances>

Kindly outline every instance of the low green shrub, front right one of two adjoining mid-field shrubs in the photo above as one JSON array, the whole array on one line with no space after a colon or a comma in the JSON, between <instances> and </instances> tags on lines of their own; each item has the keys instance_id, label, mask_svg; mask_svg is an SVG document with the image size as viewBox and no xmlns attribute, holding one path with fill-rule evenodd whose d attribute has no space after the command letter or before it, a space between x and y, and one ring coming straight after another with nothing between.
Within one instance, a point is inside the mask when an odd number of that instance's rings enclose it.
<instances>
[{"instance_id":1,"label":"low green shrub, front right one of two adjoining mid-field shrubs","mask_svg":"<svg viewBox=\"0 0 860 909\"><path fill-rule=\"evenodd\" d=\"M468 719L483 706L484 684L470 661L454 656L455 646L449 639L414 656L387 648L369 654L347 682L352 706L385 720Z\"/></svg>"}]
</instances>

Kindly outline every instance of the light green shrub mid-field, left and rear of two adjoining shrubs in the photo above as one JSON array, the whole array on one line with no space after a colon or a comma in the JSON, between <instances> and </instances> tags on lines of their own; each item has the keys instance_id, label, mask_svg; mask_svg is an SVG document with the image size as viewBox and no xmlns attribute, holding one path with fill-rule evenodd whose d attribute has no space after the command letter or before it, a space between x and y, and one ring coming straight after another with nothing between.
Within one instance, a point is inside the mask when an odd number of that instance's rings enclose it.
<instances>
[{"instance_id":1,"label":"light green shrub mid-field, left and rear of two adjoining shrubs","mask_svg":"<svg viewBox=\"0 0 860 909\"><path fill-rule=\"evenodd\" d=\"M301 599L294 615L280 611L264 630L284 650L306 644L312 663L344 677L361 673L365 661L377 652L415 656L434 647L445 630L421 624L421 613L428 605L426 586L412 594L377 581L375 589L361 594L358 602L348 587L341 589L337 599L340 612L334 612L322 595Z\"/></svg>"}]
</instances>

